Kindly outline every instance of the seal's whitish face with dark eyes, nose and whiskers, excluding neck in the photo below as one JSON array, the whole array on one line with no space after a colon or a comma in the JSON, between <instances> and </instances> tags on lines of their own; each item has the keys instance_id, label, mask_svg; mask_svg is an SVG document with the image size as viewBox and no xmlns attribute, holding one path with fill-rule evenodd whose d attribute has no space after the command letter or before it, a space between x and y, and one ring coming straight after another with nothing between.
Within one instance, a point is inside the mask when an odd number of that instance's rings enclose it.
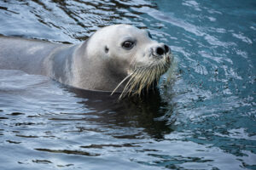
<instances>
[{"instance_id":1,"label":"seal's whitish face with dark eyes, nose and whiskers, excluding neck","mask_svg":"<svg viewBox=\"0 0 256 170\"><path fill-rule=\"evenodd\" d=\"M91 37L90 44L97 45L88 47L93 53L89 56L97 56L110 65L109 69L114 68L125 75L119 83L126 82L122 96L141 94L143 88L149 88L159 80L171 63L170 48L154 41L148 31L135 26L104 27Z\"/></svg>"}]
</instances>

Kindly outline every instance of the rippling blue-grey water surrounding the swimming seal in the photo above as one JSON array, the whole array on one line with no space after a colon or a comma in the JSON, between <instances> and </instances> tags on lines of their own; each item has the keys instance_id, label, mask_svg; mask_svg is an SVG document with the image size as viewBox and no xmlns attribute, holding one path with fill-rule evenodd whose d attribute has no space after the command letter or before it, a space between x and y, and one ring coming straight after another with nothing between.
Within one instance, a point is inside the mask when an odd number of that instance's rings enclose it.
<instances>
[{"instance_id":1,"label":"rippling blue-grey water surrounding the swimming seal","mask_svg":"<svg viewBox=\"0 0 256 170\"><path fill-rule=\"evenodd\" d=\"M177 76L117 103L0 71L0 169L256 169L255 11L253 0L1 1L5 36L77 43L102 26L147 28Z\"/></svg>"}]
</instances>

